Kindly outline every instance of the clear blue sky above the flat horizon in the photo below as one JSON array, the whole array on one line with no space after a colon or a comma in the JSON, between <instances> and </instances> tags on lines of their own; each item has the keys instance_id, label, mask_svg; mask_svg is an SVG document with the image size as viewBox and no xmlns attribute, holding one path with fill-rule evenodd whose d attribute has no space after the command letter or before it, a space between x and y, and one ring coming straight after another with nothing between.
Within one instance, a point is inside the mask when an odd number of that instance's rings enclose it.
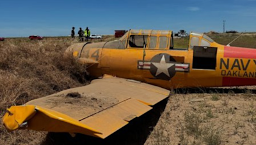
<instances>
[{"instance_id":1,"label":"clear blue sky above the flat horizon","mask_svg":"<svg viewBox=\"0 0 256 145\"><path fill-rule=\"evenodd\" d=\"M0 37L115 30L256 31L256 0L0 0Z\"/></svg>"}]
</instances>

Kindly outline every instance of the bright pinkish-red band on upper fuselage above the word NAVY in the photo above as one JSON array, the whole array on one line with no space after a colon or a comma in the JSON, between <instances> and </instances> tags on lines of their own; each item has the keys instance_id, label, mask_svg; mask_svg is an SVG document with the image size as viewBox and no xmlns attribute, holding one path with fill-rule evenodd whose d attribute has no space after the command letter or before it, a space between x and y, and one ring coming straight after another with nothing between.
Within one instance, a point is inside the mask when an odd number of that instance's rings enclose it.
<instances>
[{"instance_id":1,"label":"bright pinkish-red band on upper fuselage above the word NAVY","mask_svg":"<svg viewBox=\"0 0 256 145\"><path fill-rule=\"evenodd\" d=\"M256 49L242 47L224 47L224 57L241 58L241 59L256 59Z\"/></svg>"}]
</instances>

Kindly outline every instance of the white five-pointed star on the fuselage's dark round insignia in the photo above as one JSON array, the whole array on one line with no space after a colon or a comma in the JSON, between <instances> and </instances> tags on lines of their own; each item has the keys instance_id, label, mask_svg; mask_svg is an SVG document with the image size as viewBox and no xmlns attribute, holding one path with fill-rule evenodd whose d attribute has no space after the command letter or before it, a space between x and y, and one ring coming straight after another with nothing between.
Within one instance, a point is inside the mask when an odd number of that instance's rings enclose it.
<instances>
[{"instance_id":1,"label":"white five-pointed star on the fuselage's dark round insignia","mask_svg":"<svg viewBox=\"0 0 256 145\"><path fill-rule=\"evenodd\" d=\"M173 65L175 65L175 64L166 63L164 55L160 60L160 62L151 62L151 63L157 67L156 76L158 76L161 73L164 73L166 74L166 76L170 77L168 69Z\"/></svg>"}]
</instances>

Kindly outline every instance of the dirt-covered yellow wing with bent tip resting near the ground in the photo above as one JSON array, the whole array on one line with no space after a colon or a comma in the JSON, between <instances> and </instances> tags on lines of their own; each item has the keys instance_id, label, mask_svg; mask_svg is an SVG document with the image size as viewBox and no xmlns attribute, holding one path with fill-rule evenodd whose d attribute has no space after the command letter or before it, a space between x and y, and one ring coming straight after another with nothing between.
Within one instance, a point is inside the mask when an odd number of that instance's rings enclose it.
<instances>
[{"instance_id":1,"label":"dirt-covered yellow wing with bent tip resting near the ground","mask_svg":"<svg viewBox=\"0 0 256 145\"><path fill-rule=\"evenodd\" d=\"M90 85L64 90L12 106L3 117L9 130L69 132L102 139L147 113L169 90L131 79L104 77Z\"/></svg>"}]
</instances>

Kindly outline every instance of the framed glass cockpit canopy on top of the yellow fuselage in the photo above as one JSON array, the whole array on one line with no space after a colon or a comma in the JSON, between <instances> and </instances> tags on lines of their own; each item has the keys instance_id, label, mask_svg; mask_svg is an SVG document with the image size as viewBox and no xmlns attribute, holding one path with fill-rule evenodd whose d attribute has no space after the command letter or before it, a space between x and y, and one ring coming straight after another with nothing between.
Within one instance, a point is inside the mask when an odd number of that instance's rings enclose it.
<instances>
[{"instance_id":1,"label":"framed glass cockpit canopy on top of the yellow fuselage","mask_svg":"<svg viewBox=\"0 0 256 145\"><path fill-rule=\"evenodd\" d=\"M188 50L194 46L211 46L214 42L205 34L191 32L190 43L186 48L175 48L173 45L172 31L156 30L130 30L122 38L104 43L89 44L88 48L113 48L113 49L150 49L150 50Z\"/></svg>"}]
</instances>

